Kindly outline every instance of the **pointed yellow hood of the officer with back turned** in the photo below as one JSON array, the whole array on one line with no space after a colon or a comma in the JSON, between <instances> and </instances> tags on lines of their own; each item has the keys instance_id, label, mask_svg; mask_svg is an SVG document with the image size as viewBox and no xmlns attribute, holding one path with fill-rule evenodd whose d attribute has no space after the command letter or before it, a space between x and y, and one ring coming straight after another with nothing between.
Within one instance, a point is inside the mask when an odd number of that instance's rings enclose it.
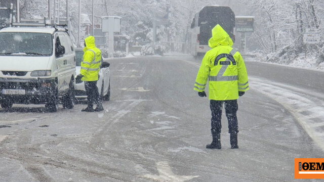
<instances>
[{"instance_id":1,"label":"pointed yellow hood of the officer with back turned","mask_svg":"<svg viewBox=\"0 0 324 182\"><path fill-rule=\"evenodd\" d=\"M218 45L233 45L232 39L219 24L212 29L212 35L212 38L208 41L208 45L211 48L215 48Z\"/></svg>"}]
</instances>

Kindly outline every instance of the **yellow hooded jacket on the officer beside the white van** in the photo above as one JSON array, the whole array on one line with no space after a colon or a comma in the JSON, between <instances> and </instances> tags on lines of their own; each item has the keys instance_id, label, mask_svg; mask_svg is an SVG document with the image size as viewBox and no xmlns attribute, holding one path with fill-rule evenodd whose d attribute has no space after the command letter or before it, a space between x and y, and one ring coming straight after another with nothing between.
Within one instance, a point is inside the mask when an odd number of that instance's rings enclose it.
<instances>
[{"instance_id":1,"label":"yellow hooded jacket on the officer beside the white van","mask_svg":"<svg viewBox=\"0 0 324 182\"><path fill-rule=\"evenodd\" d=\"M96 48L95 37L88 36L85 41L87 47L83 49L84 55L80 69L80 74L82 74L83 77L81 80L97 81L101 65L101 51Z\"/></svg>"}]
</instances>

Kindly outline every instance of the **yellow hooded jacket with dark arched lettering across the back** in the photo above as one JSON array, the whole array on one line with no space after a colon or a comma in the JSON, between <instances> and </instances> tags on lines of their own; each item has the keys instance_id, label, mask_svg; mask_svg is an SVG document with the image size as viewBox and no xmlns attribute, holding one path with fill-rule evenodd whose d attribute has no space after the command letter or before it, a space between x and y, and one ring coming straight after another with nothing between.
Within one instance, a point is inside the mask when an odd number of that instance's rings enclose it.
<instances>
[{"instance_id":1,"label":"yellow hooded jacket with dark arched lettering across the back","mask_svg":"<svg viewBox=\"0 0 324 182\"><path fill-rule=\"evenodd\" d=\"M235 100L238 91L249 89L248 73L242 56L231 46L233 41L220 26L212 30L208 51L201 62L194 90L203 92L209 80L210 100Z\"/></svg>"}]
</instances>

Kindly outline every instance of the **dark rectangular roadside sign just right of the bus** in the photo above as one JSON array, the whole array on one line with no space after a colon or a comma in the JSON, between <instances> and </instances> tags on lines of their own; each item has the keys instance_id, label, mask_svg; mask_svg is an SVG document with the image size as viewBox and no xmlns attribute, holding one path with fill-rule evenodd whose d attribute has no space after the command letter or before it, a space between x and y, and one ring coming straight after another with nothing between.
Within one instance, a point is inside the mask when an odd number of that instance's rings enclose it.
<instances>
[{"instance_id":1,"label":"dark rectangular roadside sign just right of the bus","mask_svg":"<svg viewBox=\"0 0 324 182\"><path fill-rule=\"evenodd\" d=\"M236 16L235 17L236 32L253 32L254 17L253 16Z\"/></svg>"}]
</instances>

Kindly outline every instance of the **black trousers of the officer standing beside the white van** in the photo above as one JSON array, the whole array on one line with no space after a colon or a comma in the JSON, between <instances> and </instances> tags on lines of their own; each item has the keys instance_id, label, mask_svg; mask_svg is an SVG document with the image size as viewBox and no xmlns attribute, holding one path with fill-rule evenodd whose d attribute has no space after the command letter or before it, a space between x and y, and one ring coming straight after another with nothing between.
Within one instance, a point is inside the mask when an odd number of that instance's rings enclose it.
<instances>
[{"instance_id":1,"label":"black trousers of the officer standing beside the white van","mask_svg":"<svg viewBox=\"0 0 324 182\"><path fill-rule=\"evenodd\" d=\"M88 96L88 106L99 104L101 97L98 92L97 81L85 81L85 88Z\"/></svg>"}]
</instances>

